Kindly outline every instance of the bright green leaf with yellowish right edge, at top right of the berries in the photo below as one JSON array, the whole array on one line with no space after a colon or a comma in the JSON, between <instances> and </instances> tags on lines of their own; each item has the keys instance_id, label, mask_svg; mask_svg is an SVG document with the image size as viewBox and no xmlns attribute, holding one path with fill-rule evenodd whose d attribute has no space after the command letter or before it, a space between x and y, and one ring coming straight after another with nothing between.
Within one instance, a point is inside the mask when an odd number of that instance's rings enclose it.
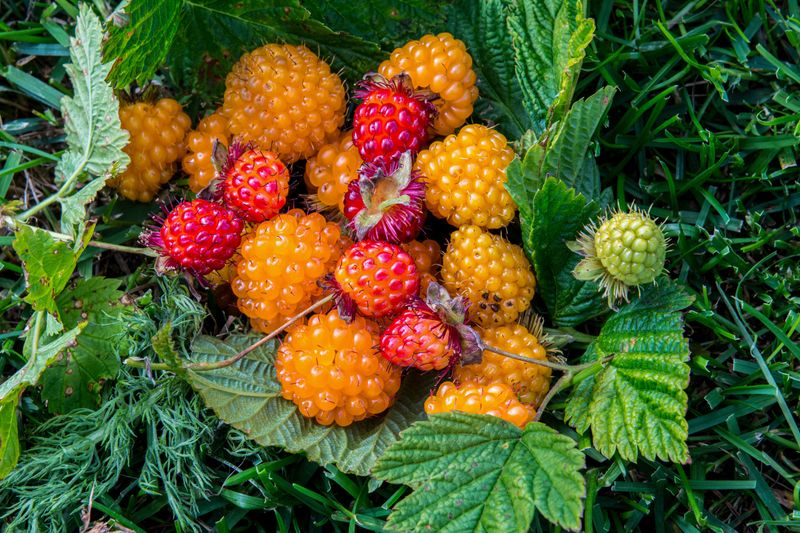
<instances>
[{"instance_id":1,"label":"bright green leaf with yellowish right edge, at top right of the berries","mask_svg":"<svg viewBox=\"0 0 800 533\"><path fill-rule=\"evenodd\" d=\"M541 134L569 107L594 22L578 0L513 0L507 23L523 103Z\"/></svg>"}]
</instances>

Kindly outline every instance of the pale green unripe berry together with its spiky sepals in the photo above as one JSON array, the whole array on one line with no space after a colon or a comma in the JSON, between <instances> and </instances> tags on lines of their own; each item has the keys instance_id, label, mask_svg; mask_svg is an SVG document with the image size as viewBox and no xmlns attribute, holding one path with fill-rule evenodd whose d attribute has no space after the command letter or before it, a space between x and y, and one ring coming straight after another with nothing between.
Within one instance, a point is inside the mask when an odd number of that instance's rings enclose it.
<instances>
[{"instance_id":1,"label":"pale green unripe berry together with its spiky sepals","mask_svg":"<svg viewBox=\"0 0 800 533\"><path fill-rule=\"evenodd\" d=\"M661 227L637 209L617 212L590 226L571 248L584 256L573 274L599 283L609 303L624 298L628 288L652 283L664 270L667 242Z\"/></svg>"}]
</instances>

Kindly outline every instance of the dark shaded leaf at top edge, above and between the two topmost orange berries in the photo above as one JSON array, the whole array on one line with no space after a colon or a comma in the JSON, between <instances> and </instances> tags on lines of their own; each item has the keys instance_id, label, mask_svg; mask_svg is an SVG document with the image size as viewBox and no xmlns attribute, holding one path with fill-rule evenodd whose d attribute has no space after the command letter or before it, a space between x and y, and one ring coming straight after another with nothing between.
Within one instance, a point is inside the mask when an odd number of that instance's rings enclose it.
<instances>
[{"instance_id":1,"label":"dark shaded leaf at top edge, above and between the two topmost orange berries","mask_svg":"<svg viewBox=\"0 0 800 533\"><path fill-rule=\"evenodd\" d=\"M446 2L429 0L315 0L304 3L313 18L331 28L379 43L385 50L419 39L426 33L438 32L444 24L446 5Z\"/></svg>"}]
</instances>

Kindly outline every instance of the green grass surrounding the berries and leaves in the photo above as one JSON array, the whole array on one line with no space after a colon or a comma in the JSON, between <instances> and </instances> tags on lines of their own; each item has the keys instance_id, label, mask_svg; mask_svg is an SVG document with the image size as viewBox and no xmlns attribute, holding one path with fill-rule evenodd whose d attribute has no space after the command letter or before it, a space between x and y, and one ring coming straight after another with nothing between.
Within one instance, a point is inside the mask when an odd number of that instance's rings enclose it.
<instances>
[{"instance_id":1,"label":"green grass surrounding the berries and leaves","mask_svg":"<svg viewBox=\"0 0 800 533\"><path fill-rule=\"evenodd\" d=\"M697 299L687 316L691 462L629 464L589 450L586 529L798 529L800 8L796 1L588 4L597 35L576 97L604 85L619 88L596 147L603 184L623 206L648 207L664 221L672 242L670 273ZM72 15L66 1L34 3L30 12L12 2L0 19L0 57L11 66L0 79L5 201L33 204L52 192L50 154L63 147L52 108L67 91L69 25L62 22ZM123 221L105 216L100 230L109 241L130 241L135 231L128 226L140 224L145 210L124 202L113 209ZM53 214L45 213L43 222L55 226ZM21 305L24 281L6 239L0 236L0 370L8 375L21 365L18 337L30 311ZM83 261L79 269L125 276L137 298L163 294L166 289L138 266L129 257L106 257L94 266ZM159 312L153 309L154 324L164 321ZM206 327L218 328L222 320L215 314ZM140 389L129 402L152 394L155 385L146 375L131 379ZM106 394L117 397L117 390ZM95 499L93 519L105 516L137 531L169 530L177 506L193 517L182 530L192 524L223 532L380 530L389 507L406 493L299 456L255 449L179 391L174 407L191 410L198 424L211 427L208 438L196 441L202 449L191 451L204 462L205 482L189 475L191 469L176 471L180 458L159 455L169 441L153 436L180 435L182 429L143 415L124 444L132 459ZM29 394L22 403L31 421L24 446L57 447L42 441L40 428L53 422L34 398ZM563 403L551 406L558 410ZM60 423L77 427L68 422ZM113 446L122 446L109 442L110 452L99 457L112 457L119 451ZM137 480L148 450L171 466L143 486ZM92 460L73 457L75 471L91 470ZM43 487L35 494L51 495L53 486ZM88 502L85 490L78 507ZM194 505L194 496L176 500L190 493L207 499ZM0 492L6 506L14 498L19 493ZM76 524L75 515L68 519ZM534 531L551 528L543 519L534 521Z\"/></svg>"}]
</instances>

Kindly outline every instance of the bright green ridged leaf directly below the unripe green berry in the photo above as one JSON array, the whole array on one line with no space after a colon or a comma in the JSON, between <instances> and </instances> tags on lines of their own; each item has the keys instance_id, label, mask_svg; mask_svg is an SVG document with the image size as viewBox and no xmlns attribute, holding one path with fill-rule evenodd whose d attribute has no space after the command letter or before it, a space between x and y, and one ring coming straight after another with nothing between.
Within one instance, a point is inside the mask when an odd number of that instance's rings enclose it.
<instances>
[{"instance_id":1,"label":"bright green ridged leaf directly below the unripe green berry","mask_svg":"<svg viewBox=\"0 0 800 533\"><path fill-rule=\"evenodd\" d=\"M566 418L581 432L590 427L606 457L687 460L689 344L681 310L691 302L662 278L609 317L591 346L593 357L614 358L573 389Z\"/></svg>"}]
</instances>

